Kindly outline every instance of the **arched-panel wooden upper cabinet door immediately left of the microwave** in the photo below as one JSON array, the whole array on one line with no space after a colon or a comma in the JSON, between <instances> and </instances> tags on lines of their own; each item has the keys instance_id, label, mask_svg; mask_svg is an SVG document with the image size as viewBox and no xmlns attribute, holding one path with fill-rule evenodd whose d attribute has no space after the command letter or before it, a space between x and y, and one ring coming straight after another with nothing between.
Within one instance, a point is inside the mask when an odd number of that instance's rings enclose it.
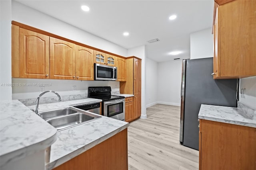
<instances>
[{"instance_id":1,"label":"arched-panel wooden upper cabinet door immediately left of the microwave","mask_svg":"<svg viewBox=\"0 0 256 170\"><path fill-rule=\"evenodd\" d=\"M76 80L94 80L94 50L76 45Z\"/></svg>"}]
</instances>

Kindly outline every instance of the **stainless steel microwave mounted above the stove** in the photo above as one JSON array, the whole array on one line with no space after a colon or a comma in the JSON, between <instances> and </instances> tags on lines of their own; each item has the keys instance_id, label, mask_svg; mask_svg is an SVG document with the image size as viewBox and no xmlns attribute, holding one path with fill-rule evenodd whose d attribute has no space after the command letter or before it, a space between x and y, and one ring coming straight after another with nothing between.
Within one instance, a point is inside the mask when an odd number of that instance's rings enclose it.
<instances>
[{"instance_id":1,"label":"stainless steel microwave mounted above the stove","mask_svg":"<svg viewBox=\"0 0 256 170\"><path fill-rule=\"evenodd\" d=\"M94 63L94 80L115 81L116 78L117 78L116 67Z\"/></svg>"}]
</instances>

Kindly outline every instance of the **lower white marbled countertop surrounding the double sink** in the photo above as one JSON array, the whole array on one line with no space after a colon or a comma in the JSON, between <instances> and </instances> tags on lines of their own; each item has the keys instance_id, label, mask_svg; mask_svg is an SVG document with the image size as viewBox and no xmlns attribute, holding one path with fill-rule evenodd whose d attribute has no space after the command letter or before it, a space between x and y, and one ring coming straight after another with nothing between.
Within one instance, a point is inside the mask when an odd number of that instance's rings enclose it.
<instances>
[{"instance_id":1,"label":"lower white marbled countertop surrounding the double sink","mask_svg":"<svg viewBox=\"0 0 256 170\"><path fill-rule=\"evenodd\" d=\"M86 98L51 104L39 104L38 112L68 107L70 105L74 106L75 104L90 104L101 101L102 100ZM35 106L28 107L35 108ZM58 131L56 135L57 140L51 146L50 162L46 165L46 169L50 170L67 162L78 154L81 154L102 141L116 135L128 126L129 123L125 121L102 116L100 119Z\"/></svg>"}]
</instances>

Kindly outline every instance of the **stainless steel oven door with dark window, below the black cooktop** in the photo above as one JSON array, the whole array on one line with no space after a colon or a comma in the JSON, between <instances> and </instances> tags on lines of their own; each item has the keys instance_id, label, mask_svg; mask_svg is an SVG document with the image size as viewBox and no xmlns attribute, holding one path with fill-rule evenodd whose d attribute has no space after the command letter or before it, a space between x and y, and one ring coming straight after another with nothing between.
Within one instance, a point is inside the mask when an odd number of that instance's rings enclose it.
<instances>
[{"instance_id":1,"label":"stainless steel oven door with dark window, below the black cooktop","mask_svg":"<svg viewBox=\"0 0 256 170\"><path fill-rule=\"evenodd\" d=\"M124 118L125 118L124 98L104 102L104 116L124 121Z\"/></svg>"}]
</instances>

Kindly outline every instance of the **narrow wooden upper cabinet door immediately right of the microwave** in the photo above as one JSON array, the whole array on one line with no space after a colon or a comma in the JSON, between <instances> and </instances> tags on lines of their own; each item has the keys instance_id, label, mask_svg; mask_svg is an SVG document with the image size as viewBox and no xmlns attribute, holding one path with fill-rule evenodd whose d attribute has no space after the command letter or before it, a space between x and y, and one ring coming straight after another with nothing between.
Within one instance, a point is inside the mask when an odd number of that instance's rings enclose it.
<instances>
[{"instance_id":1,"label":"narrow wooden upper cabinet door immediately right of the microwave","mask_svg":"<svg viewBox=\"0 0 256 170\"><path fill-rule=\"evenodd\" d=\"M126 81L126 59L116 57L117 81Z\"/></svg>"}]
</instances>

